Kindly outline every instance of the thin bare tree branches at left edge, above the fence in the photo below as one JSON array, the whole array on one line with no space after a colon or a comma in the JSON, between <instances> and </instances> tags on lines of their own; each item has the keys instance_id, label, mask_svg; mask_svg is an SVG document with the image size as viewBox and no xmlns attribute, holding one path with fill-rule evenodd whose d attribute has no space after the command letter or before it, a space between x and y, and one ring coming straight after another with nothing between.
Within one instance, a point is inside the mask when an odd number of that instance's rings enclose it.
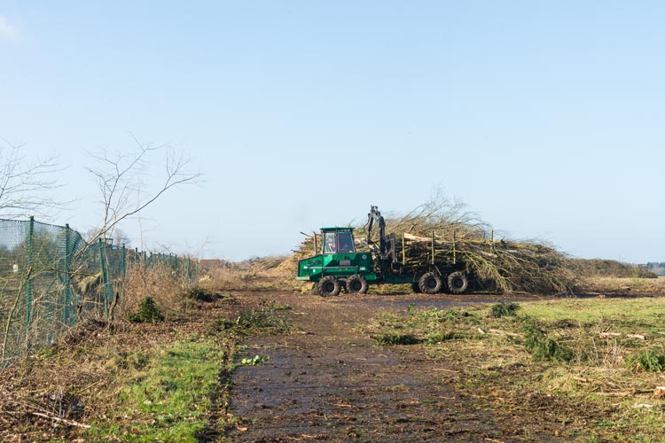
<instances>
[{"instance_id":1,"label":"thin bare tree branches at left edge, above the fence","mask_svg":"<svg viewBox=\"0 0 665 443\"><path fill-rule=\"evenodd\" d=\"M66 205L51 195L59 187L53 178L61 170L58 158L28 161L21 152L23 148L24 144L12 144L0 137L0 216L48 217L53 210Z\"/></svg>"}]
</instances>

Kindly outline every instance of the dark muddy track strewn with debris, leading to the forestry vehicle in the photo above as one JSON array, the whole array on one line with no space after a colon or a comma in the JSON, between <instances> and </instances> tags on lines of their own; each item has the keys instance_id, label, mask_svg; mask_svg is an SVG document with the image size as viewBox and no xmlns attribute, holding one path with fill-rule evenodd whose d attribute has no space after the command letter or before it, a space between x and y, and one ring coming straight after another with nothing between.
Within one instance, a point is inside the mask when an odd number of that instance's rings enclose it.
<instances>
[{"instance_id":1,"label":"dark muddy track strewn with debris, leading to the forestry vehicle","mask_svg":"<svg viewBox=\"0 0 665 443\"><path fill-rule=\"evenodd\" d=\"M361 330L369 318L415 307L459 307L497 296L341 296L239 294L291 307L290 334L249 338L243 357L270 355L232 376L231 412L242 418L232 441L556 441L553 424L520 437L472 396L458 392L457 368L420 346L377 346ZM504 299L506 300L506 299Z\"/></svg>"}]
</instances>

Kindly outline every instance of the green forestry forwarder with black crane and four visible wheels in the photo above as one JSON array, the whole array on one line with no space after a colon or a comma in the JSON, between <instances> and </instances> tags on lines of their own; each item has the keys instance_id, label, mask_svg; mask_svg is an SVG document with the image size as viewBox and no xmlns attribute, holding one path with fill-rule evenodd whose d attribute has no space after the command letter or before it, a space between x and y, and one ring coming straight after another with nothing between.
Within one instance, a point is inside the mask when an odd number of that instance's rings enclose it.
<instances>
[{"instance_id":1,"label":"green forestry forwarder with black crane and four visible wheels","mask_svg":"<svg viewBox=\"0 0 665 443\"><path fill-rule=\"evenodd\" d=\"M431 260L414 263L407 260L411 253L405 237L386 235L386 222L376 206L368 218L370 252L356 252L353 228L322 228L320 253L298 262L296 279L315 282L317 292L324 297L339 295L343 288L350 294L364 294L371 284L411 284L413 291L426 294L461 294L469 288L465 263L457 260L454 245L450 257L434 260L433 235L428 251ZM378 246L371 239L373 223L379 227ZM318 252L316 236L314 247Z\"/></svg>"}]
</instances>

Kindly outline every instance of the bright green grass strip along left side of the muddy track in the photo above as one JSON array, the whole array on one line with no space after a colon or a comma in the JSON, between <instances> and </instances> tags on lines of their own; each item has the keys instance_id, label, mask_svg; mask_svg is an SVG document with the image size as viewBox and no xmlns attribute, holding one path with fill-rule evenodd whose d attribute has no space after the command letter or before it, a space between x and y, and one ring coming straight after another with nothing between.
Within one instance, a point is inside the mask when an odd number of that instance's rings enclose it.
<instances>
[{"instance_id":1,"label":"bright green grass strip along left side of the muddy track","mask_svg":"<svg viewBox=\"0 0 665 443\"><path fill-rule=\"evenodd\" d=\"M220 389L224 355L213 339L180 341L143 355L127 381L115 416L90 431L90 439L196 442Z\"/></svg>"}]
</instances>

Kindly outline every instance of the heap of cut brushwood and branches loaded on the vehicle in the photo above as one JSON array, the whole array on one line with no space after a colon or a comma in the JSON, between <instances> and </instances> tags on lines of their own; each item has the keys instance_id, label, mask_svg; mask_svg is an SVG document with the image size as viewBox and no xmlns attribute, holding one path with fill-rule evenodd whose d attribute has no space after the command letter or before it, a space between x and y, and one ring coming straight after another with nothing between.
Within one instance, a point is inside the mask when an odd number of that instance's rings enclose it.
<instances>
[{"instance_id":1,"label":"heap of cut brushwood and branches loaded on the vehicle","mask_svg":"<svg viewBox=\"0 0 665 443\"><path fill-rule=\"evenodd\" d=\"M431 267L434 239L434 266L448 268L455 261L472 276L477 289L504 293L573 291L575 273L566 254L542 242L494 238L492 229L478 215L441 194L409 214L384 217L386 233L395 233L399 246L396 258L404 262L406 272ZM373 247L379 245L377 231L372 229ZM369 250L367 225L356 228L355 237L356 249ZM317 245L321 245L320 238ZM294 254L293 261L297 263L313 252L314 237L310 236Z\"/></svg>"}]
</instances>

